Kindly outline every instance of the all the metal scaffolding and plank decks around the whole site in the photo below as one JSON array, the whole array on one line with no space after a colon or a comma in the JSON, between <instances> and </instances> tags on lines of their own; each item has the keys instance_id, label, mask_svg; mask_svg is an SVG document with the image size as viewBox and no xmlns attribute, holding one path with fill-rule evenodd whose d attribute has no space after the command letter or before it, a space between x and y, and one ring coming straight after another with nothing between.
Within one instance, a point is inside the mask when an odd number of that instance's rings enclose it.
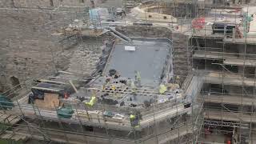
<instances>
[{"instance_id":1,"label":"all the metal scaffolding and plank decks around the whole site","mask_svg":"<svg viewBox=\"0 0 256 144\"><path fill-rule=\"evenodd\" d=\"M222 143L227 141L254 143L256 141L254 140L256 53L252 47L255 44L254 36L247 34L250 29L249 6L247 6L246 18L243 18L240 6L227 5L226 1L214 4L204 2L200 5L197 2L186 2L184 5L186 12L180 15L175 9L180 2L168 4L158 2L157 5L159 11L160 8L174 6L172 15L180 19L177 24L175 23L179 28L177 31L190 36L186 47L189 74L174 74L174 77L184 78L181 86L182 94L193 95L191 102L178 102L174 99L164 104L153 104L149 109L141 111L142 120L139 128L131 126L127 110L124 110L126 118L122 122L113 122L113 119L107 118L103 112L116 108L105 105L97 106L97 117L94 117L92 108L81 103L71 104L73 114L68 114L69 118L60 118L58 106L46 110L26 102L31 93L30 89L38 85L38 79L63 82L62 88L70 81L86 81L74 77L53 77L57 71L54 51L51 50L53 70L50 74L39 74L38 78L26 80L2 93L12 100L14 106L2 106L1 138L10 141L25 141L31 138L49 143L199 143L212 142L212 138L216 138L217 135L218 138L223 139ZM225 9L219 9L220 7ZM74 15L74 18L63 21L62 26L66 26L74 19L83 18L83 21L87 21L89 16L85 11L89 9L85 10L85 8L58 6L55 9L23 7L0 8L0 10ZM192 11L189 11L190 8ZM223 33L213 34L212 24L218 20L232 23L236 27L230 30L231 33L225 28ZM145 18L145 22L150 21ZM173 24L172 19L170 23ZM46 25L50 24L51 22L46 23ZM241 30L236 29L237 27ZM174 30L174 26L169 29ZM82 34L66 34L59 42L70 44L70 41L82 45ZM89 88L88 91L97 91L97 94L100 94L102 87L96 86ZM117 91L120 94L133 93L132 90L124 87L117 88ZM112 90L104 92L112 93ZM158 95L157 90L153 89L142 88L137 92L144 95ZM166 95L169 93L167 91ZM175 98L178 98L178 95L175 95Z\"/></svg>"}]
</instances>

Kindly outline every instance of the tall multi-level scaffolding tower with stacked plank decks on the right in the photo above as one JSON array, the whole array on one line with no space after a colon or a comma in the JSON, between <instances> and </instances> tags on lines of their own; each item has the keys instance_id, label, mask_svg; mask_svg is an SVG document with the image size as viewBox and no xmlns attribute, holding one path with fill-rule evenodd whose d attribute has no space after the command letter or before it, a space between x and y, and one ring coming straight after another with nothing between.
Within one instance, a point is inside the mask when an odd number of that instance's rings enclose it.
<instances>
[{"instance_id":1,"label":"tall multi-level scaffolding tower with stacked plank decks on the right","mask_svg":"<svg viewBox=\"0 0 256 144\"><path fill-rule=\"evenodd\" d=\"M198 101L204 103L204 128L198 142L255 142L255 60L254 50L251 50L255 42L254 36L247 34L253 31L249 30L248 18L243 16L243 13L250 13L249 7L232 9L230 6L222 12L217 5L210 7L214 16L209 13L198 15L206 22L199 30L191 32L191 62L204 78L198 96ZM226 13L228 10L232 11L228 12L230 15ZM225 28L222 34L214 34L214 27L207 24L210 22L207 17L214 19L212 24L226 22L234 24L235 28L230 30L231 33ZM246 32L242 34L241 31Z\"/></svg>"}]
</instances>

